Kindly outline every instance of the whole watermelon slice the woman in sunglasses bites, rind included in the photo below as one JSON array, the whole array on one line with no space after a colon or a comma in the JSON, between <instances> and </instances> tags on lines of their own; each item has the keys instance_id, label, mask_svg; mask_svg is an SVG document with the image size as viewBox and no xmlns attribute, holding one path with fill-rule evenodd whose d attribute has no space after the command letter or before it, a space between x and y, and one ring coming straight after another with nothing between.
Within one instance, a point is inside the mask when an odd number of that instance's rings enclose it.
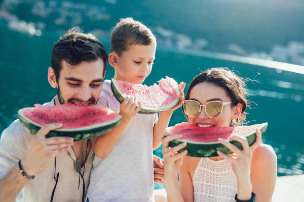
<instances>
[{"instance_id":1,"label":"whole watermelon slice the woman in sunglasses bites, rind included","mask_svg":"<svg viewBox=\"0 0 304 202\"><path fill-rule=\"evenodd\" d=\"M170 147L174 147L182 142L187 142L186 147L180 149L182 152L187 149L187 156L191 157L217 157L217 150L225 154L232 154L232 151L218 142L218 138L227 139L232 135L242 135L247 138L249 146L256 140L255 129L258 128L261 134L264 135L268 127L268 123L256 124L251 126L237 126L237 127L207 127L202 128L197 124L181 123L173 127L168 127L166 131L172 134L182 134L181 139L176 139L169 142ZM238 148L243 149L238 141L231 141L232 144Z\"/></svg>"}]
</instances>

